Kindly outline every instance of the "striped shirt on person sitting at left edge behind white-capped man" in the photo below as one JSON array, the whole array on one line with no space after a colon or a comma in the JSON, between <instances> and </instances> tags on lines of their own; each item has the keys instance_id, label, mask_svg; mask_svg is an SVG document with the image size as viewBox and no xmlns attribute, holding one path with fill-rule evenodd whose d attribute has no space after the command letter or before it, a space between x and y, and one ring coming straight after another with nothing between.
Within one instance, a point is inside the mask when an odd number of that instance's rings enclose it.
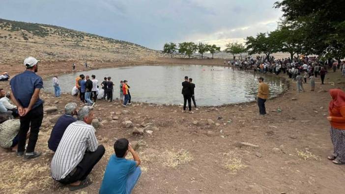
<instances>
[{"instance_id":1,"label":"striped shirt on person sitting at left edge behind white-capped man","mask_svg":"<svg viewBox=\"0 0 345 194\"><path fill-rule=\"evenodd\" d=\"M13 139L17 136L20 129L20 120L6 120L0 124L0 146L2 148L10 148Z\"/></svg>"}]
</instances>

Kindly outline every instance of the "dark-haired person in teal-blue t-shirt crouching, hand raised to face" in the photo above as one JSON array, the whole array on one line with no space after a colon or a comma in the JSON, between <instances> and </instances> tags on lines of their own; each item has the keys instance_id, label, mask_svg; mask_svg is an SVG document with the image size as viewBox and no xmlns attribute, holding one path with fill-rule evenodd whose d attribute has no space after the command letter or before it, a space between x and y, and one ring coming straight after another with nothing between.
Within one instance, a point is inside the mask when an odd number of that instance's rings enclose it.
<instances>
[{"instance_id":1,"label":"dark-haired person in teal-blue t-shirt crouching, hand raised to face","mask_svg":"<svg viewBox=\"0 0 345 194\"><path fill-rule=\"evenodd\" d=\"M99 194L130 194L142 173L138 154L127 139L118 139L114 144L113 154L104 173ZM133 160L125 159L131 152Z\"/></svg>"}]
</instances>

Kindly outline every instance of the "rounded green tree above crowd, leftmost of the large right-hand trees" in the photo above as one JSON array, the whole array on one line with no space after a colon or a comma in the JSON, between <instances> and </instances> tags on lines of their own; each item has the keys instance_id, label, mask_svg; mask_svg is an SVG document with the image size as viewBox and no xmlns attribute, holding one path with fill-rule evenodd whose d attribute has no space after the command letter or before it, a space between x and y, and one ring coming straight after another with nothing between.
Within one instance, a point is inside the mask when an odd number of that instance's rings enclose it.
<instances>
[{"instance_id":1,"label":"rounded green tree above crowd, leftmost of the large right-hand trees","mask_svg":"<svg viewBox=\"0 0 345 194\"><path fill-rule=\"evenodd\" d=\"M279 50L279 42L274 36L270 36L268 33L259 33L257 37L249 36L246 40L250 55L263 53L269 58L269 55Z\"/></svg>"}]
</instances>

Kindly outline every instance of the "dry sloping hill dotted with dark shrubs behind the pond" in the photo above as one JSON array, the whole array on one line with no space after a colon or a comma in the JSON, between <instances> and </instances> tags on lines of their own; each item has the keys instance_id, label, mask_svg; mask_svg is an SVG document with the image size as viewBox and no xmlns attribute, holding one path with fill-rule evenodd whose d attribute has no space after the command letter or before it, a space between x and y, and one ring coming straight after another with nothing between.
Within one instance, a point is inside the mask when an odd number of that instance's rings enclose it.
<instances>
[{"instance_id":1,"label":"dry sloping hill dotted with dark shrubs behind the pond","mask_svg":"<svg viewBox=\"0 0 345 194\"><path fill-rule=\"evenodd\" d=\"M46 24L0 19L0 64L42 61L138 62L162 56L138 44Z\"/></svg>"}]
</instances>

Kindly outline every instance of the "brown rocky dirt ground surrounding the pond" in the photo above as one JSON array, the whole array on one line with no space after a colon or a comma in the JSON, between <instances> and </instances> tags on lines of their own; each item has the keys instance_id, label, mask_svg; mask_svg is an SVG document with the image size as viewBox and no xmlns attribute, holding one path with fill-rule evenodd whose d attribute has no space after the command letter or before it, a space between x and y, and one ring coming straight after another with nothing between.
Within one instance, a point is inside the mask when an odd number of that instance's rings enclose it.
<instances>
[{"instance_id":1,"label":"brown rocky dirt ground surrounding the pond","mask_svg":"<svg viewBox=\"0 0 345 194\"><path fill-rule=\"evenodd\" d=\"M223 61L160 59L152 63L222 65ZM52 68L57 65L70 71L68 62L46 63L41 64L39 74L62 73L61 68ZM126 64L96 67L119 65ZM22 71L21 65L4 68L12 75ZM76 193L98 192L118 138L135 142L142 159L143 173L135 194L341 193L345 168L326 158L332 151L326 116L327 91L345 85L340 73L329 73L326 78L322 86L316 80L315 92L307 84L306 92L297 93L291 82L286 93L267 101L266 116L258 115L255 103L200 107L188 114L178 106L133 103L123 108L118 102L98 101L94 124L99 125L96 136L106 154L90 174L93 184ZM0 87L8 88L8 82L1 82ZM13 152L0 149L0 193L69 193L50 177L53 153L47 141L64 105L79 101L70 94L55 98L42 93L41 97L46 113L37 150L44 154L24 163Z\"/></svg>"}]
</instances>

